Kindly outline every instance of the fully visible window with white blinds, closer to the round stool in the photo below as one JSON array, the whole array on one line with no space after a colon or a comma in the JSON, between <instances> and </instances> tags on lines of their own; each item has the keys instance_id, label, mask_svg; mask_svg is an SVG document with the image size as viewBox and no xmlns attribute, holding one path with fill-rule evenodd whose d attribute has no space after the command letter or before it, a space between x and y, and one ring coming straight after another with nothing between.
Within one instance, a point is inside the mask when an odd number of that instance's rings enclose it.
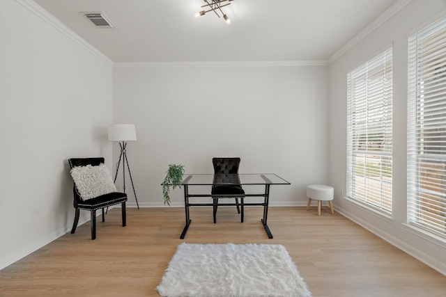
<instances>
[{"instance_id":1,"label":"fully visible window with white blinds, closer to the round stool","mask_svg":"<svg viewBox=\"0 0 446 297\"><path fill-rule=\"evenodd\" d=\"M392 214L392 47L347 74L347 196Z\"/></svg>"}]
</instances>

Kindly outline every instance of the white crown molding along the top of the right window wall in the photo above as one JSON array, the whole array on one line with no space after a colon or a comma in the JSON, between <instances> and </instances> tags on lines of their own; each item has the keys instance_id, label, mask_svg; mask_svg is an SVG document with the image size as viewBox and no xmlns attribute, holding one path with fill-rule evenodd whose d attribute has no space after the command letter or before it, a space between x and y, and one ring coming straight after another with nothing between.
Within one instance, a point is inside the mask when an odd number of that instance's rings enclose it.
<instances>
[{"instance_id":1,"label":"white crown molding along the top of the right window wall","mask_svg":"<svg viewBox=\"0 0 446 297\"><path fill-rule=\"evenodd\" d=\"M367 26L364 30L362 30L360 33L355 35L349 42L347 42L343 47L338 49L330 58L328 58L328 64L333 63L336 61L339 57L344 55L349 49L357 45L361 40L367 37L370 33L378 29L379 26L387 22L388 19L396 15L401 9L406 7L408 3L412 2L412 0L399 0L397 3L394 3L390 8L385 10L384 13L382 13L379 17L377 17L374 22L371 22L369 26Z\"/></svg>"}]
</instances>

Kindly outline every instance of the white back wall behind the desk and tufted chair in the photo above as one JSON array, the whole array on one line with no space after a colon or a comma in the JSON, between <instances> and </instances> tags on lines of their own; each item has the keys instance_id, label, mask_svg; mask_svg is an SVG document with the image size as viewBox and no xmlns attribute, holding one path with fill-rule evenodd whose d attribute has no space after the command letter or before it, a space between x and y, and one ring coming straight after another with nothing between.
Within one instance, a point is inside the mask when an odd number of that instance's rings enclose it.
<instances>
[{"instance_id":1,"label":"white back wall behind the desk and tufted chair","mask_svg":"<svg viewBox=\"0 0 446 297\"><path fill-rule=\"evenodd\" d=\"M128 158L139 205L163 205L169 163L212 173L213 156L291 182L272 186L272 205L305 203L305 186L328 180L327 88L327 66L114 67L114 123L137 128ZM183 205L183 191L171 200Z\"/></svg>"}]
</instances>

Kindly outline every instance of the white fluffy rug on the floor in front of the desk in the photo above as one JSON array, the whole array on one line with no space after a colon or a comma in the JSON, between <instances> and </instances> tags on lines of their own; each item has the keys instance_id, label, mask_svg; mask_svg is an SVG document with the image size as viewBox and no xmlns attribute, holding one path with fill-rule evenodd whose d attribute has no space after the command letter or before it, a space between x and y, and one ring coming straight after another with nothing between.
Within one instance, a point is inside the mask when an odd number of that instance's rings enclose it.
<instances>
[{"instance_id":1,"label":"white fluffy rug on the floor in front of the desk","mask_svg":"<svg viewBox=\"0 0 446 297\"><path fill-rule=\"evenodd\" d=\"M312 296L284 246L255 243L181 243L157 291L169 297Z\"/></svg>"}]
</instances>

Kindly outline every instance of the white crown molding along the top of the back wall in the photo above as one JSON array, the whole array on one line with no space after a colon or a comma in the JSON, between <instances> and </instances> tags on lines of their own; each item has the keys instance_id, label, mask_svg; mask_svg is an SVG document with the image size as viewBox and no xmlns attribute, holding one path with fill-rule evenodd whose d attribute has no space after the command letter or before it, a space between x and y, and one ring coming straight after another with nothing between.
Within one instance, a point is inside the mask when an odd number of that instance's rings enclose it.
<instances>
[{"instance_id":1,"label":"white crown molding along the top of the back wall","mask_svg":"<svg viewBox=\"0 0 446 297\"><path fill-rule=\"evenodd\" d=\"M326 66L328 61L206 61L206 62L151 62L151 63L114 63L114 68L146 67L289 67L289 66Z\"/></svg>"}]
</instances>

